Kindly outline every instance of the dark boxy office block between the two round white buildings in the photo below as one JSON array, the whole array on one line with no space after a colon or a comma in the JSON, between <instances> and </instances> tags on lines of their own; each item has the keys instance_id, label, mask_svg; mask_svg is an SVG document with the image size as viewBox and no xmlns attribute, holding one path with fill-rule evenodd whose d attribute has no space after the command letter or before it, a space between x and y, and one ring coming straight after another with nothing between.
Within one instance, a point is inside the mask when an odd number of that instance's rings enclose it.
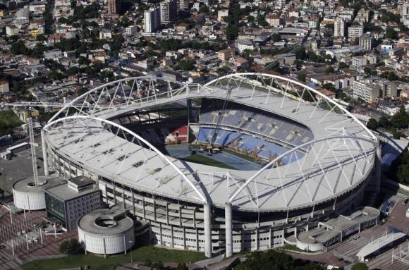
<instances>
[{"instance_id":1,"label":"dark boxy office block between the two round white buildings","mask_svg":"<svg viewBox=\"0 0 409 270\"><path fill-rule=\"evenodd\" d=\"M101 190L94 180L78 176L45 190L45 204L48 219L59 221L66 231L73 231L82 216L101 209Z\"/></svg>"}]
</instances>

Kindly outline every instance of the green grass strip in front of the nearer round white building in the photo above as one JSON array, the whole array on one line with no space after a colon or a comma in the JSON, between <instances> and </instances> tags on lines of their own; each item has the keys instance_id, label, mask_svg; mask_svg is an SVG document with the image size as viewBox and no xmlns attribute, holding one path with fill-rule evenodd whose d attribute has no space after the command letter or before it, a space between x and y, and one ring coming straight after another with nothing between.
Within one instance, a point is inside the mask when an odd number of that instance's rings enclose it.
<instances>
[{"instance_id":1,"label":"green grass strip in front of the nearer round white building","mask_svg":"<svg viewBox=\"0 0 409 270\"><path fill-rule=\"evenodd\" d=\"M132 251L133 262L145 262L150 259L152 262L196 262L206 259L203 252L193 252L185 250L168 250L160 247L142 246ZM90 266L90 270L110 270L116 266L130 262L130 253L111 257L96 256L93 254L71 255L69 258L61 259L40 259L23 265L25 270L57 270L73 267Z\"/></svg>"}]
</instances>

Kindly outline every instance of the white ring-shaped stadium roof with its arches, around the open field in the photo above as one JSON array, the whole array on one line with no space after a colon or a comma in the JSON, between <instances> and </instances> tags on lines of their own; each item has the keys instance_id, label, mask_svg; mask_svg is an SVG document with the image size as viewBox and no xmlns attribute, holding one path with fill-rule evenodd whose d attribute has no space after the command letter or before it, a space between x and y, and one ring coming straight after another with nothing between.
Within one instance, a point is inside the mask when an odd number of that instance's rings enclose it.
<instances>
[{"instance_id":1,"label":"white ring-shaped stadium roof with its arches, around the open field","mask_svg":"<svg viewBox=\"0 0 409 270\"><path fill-rule=\"evenodd\" d=\"M266 78L274 79L279 86L264 83ZM159 78L126 80L134 80L133 89L137 89L142 80L151 80L154 85ZM151 92L149 82L151 94L139 100L130 100L130 95L126 97L124 93L119 97L118 89L126 80L103 85L73 101L89 103L92 99L99 104L101 97L108 96L113 104L110 109L75 108L74 116L69 116L73 113L69 106L62 109L44 127L50 147L65 159L136 190L195 203L223 206L231 202L248 211L282 211L332 200L360 185L374 165L377 140L365 125L315 90L291 79L243 73L204 86L181 85L175 90L169 87L164 93L157 93L153 86ZM316 104L300 102L290 97L296 90L317 94L320 100ZM228 97L232 102L292 119L310 128L314 139L271 161L274 164L295 155L297 149L307 149L305 157L291 164L238 171L164 157L152 145L149 149L142 147L138 143L142 138L132 131L108 120L138 109L202 97ZM114 100L120 104L114 105ZM320 102L332 109L322 109ZM64 114L66 117L58 119ZM107 127L119 129L113 133ZM121 134L133 137L133 142L119 137Z\"/></svg>"}]
</instances>

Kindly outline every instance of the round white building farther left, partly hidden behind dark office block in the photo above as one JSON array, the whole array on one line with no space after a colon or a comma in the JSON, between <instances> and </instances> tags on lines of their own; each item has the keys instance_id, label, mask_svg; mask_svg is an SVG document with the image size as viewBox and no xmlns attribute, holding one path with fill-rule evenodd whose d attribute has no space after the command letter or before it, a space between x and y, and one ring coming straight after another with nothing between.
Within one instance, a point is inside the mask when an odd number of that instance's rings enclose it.
<instances>
[{"instance_id":1,"label":"round white building farther left, partly hidden behind dark office block","mask_svg":"<svg viewBox=\"0 0 409 270\"><path fill-rule=\"evenodd\" d=\"M29 177L14 183L14 205L18 209L28 211L45 209L44 190L58 184L59 178L39 176L38 182L39 183L35 185L34 178Z\"/></svg>"}]
</instances>

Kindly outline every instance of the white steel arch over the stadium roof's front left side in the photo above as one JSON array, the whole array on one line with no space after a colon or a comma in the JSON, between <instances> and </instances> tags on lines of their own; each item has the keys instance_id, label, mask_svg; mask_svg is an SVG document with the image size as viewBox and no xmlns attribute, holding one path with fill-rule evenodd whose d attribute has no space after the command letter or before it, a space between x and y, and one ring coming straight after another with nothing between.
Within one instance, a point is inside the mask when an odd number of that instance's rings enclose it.
<instances>
[{"instance_id":1,"label":"white steel arch over the stadium roof's front left side","mask_svg":"<svg viewBox=\"0 0 409 270\"><path fill-rule=\"evenodd\" d=\"M185 173L183 173L180 170L180 168L178 168L175 164L173 164L173 162L169 159L169 157L166 157L164 154L162 154L156 147L154 147L151 143L149 143L143 137L140 137L140 135L134 133L132 130L129 130L128 128L123 127L122 125L118 125L117 123L114 123L112 121L106 120L104 118L98 118L95 116L67 116L64 118L59 118L54 121L51 121L50 123L47 123L47 125L44 125L43 129L49 132L50 130L48 128L51 127L51 125L56 125L57 123L63 122L63 121L79 120L79 119L87 119L87 120L99 121L101 123L106 123L108 125L112 125L115 128L123 130L124 132L132 135L137 140L147 145L149 149L153 150L156 154L158 154L159 157L161 157L161 159L164 159L164 161L166 161L166 163L168 163L183 178L183 180L185 180L190 185L191 188L193 188L196 194L200 197L200 200L202 200L203 203L208 203L207 198L199 190L197 190L197 187L192 183L192 181L185 175Z\"/></svg>"}]
</instances>

